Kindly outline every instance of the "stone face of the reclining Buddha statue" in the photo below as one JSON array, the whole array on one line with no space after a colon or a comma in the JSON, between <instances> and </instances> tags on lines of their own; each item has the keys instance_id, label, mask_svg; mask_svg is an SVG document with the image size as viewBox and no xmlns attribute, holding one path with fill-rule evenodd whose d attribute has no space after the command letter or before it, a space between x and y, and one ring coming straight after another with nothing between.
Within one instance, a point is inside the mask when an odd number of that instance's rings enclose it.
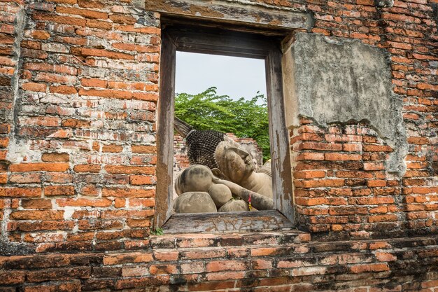
<instances>
[{"instance_id":1,"label":"stone face of the reclining Buddha statue","mask_svg":"<svg viewBox=\"0 0 438 292\"><path fill-rule=\"evenodd\" d=\"M234 183L241 183L255 170L251 155L239 147L238 143L225 136L215 151L219 170Z\"/></svg>"}]
</instances>

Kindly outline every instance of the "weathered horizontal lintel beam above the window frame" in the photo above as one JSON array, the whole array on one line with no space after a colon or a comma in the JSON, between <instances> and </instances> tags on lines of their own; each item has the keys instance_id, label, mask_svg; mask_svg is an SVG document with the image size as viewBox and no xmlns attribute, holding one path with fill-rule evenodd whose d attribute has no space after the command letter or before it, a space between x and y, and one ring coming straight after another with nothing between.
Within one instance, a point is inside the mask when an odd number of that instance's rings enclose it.
<instances>
[{"instance_id":1,"label":"weathered horizontal lintel beam above the window frame","mask_svg":"<svg viewBox=\"0 0 438 292\"><path fill-rule=\"evenodd\" d=\"M313 26L311 13L292 8L256 5L243 1L145 0L147 11L163 15L219 20L271 29L306 29Z\"/></svg>"}]
</instances>

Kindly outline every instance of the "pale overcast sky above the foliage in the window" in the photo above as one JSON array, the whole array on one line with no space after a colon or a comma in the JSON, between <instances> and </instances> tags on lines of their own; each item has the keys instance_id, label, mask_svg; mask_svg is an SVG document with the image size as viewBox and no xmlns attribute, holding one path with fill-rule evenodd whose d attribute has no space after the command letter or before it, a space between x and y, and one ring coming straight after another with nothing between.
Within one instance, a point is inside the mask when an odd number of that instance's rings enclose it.
<instances>
[{"instance_id":1,"label":"pale overcast sky above the foliage in the window","mask_svg":"<svg viewBox=\"0 0 438 292\"><path fill-rule=\"evenodd\" d=\"M233 99L266 96L264 60L176 52L176 93L201 93L211 86Z\"/></svg>"}]
</instances>

